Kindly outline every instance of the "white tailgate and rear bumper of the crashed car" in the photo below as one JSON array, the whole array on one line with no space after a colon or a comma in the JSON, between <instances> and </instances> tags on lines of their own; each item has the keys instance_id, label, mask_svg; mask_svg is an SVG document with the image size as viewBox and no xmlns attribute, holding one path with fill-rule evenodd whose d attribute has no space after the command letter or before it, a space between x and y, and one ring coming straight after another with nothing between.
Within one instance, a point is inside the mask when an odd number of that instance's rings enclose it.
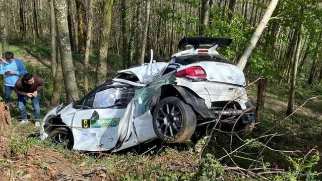
<instances>
[{"instance_id":1,"label":"white tailgate and rear bumper of the crashed car","mask_svg":"<svg viewBox=\"0 0 322 181\"><path fill-rule=\"evenodd\" d=\"M207 81L192 82L187 78L177 78L177 85L185 86L205 99L208 108L215 101L235 100L245 109L247 93L243 72L234 65L216 62L200 62L181 66L178 71L188 67L202 67L207 74Z\"/></svg>"}]
</instances>

